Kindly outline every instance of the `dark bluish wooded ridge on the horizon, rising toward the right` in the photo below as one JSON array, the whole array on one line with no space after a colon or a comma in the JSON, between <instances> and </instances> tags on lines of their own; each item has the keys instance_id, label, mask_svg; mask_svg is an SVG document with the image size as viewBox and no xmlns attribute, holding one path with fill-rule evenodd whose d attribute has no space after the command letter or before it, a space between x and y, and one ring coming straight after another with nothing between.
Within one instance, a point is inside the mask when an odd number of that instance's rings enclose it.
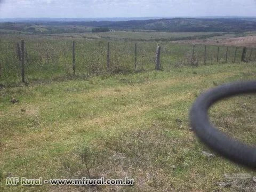
<instances>
[{"instance_id":1,"label":"dark bluish wooded ridge on the horizon, rising toward the right","mask_svg":"<svg viewBox=\"0 0 256 192\"><path fill-rule=\"evenodd\" d=\"M223 31L223 32L244 32L256 30L255 18L218 18L218 19L195 19L195 18L173 18L157 20L132 20L117 22L90 23L101 27L113 29L143 29L159 31Z\"/></svg>"}]
</instances>

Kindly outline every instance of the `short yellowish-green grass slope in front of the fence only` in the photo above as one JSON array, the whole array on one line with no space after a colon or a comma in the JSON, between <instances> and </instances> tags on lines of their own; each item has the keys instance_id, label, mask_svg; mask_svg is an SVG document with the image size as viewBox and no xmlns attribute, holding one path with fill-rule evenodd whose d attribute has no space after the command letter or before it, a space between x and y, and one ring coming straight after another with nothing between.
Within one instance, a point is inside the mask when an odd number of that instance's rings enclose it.
<instances>
[{"instance_id":1,"label":"short yellowish-green grass slope in front of the fence only","mask_svg":"<svg viewBox=\"0 0 256 192\"><path fill-rule=\"evenodd\" d=\"M4 185L8 176L87 177L81 153L93 177L135 179L134 187L90 191L241 190L219 187L218 182L225 180L224 173L252 172L219 156L205 157L202 151L209 149L189 131L188 111L213 82L255 75L255 63L238 63L2 89L0 190L87 190ZM11 98L19 103L12 104ZM255 99L222 101L212 108L211 117L222 131L255 143Z\"/></svg>"}]
</instances>

